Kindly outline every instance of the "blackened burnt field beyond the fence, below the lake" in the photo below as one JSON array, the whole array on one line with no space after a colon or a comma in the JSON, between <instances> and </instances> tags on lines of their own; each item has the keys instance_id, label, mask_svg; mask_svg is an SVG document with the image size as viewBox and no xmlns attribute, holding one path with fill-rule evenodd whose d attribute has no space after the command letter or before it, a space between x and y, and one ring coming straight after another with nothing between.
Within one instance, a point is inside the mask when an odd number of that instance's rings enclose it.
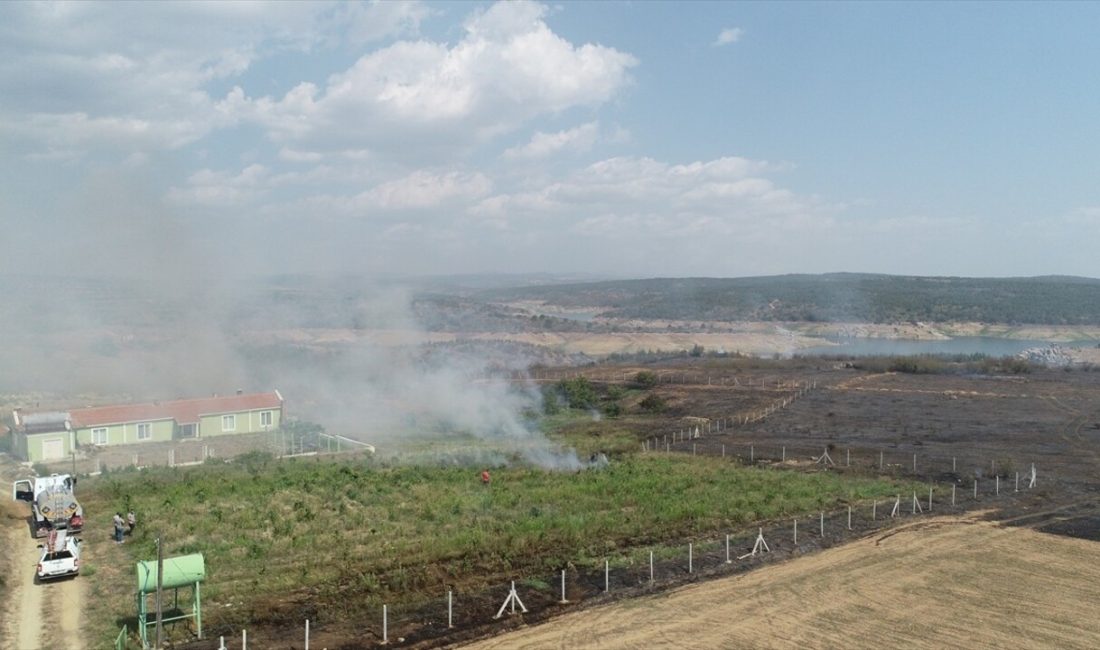
<instances>
[{"instance_id":1,"label":"blackened burnt field beyond the fence, below the lake","mask_svg":"<svg viewBox=\"0 0 1100 650\"><path fill-rule=\"evenodd\" d=\"M586 375L614 383L638 370L604 366ZM829 449L842 472L949 481L960 491L975 480L992 489L998 478L1002 489L1014 489L1016 473L1023 481L1034 463L1044 498L1059 508L1018 521L1100 540L1100 373L913 374L805 359L678 360L645 370L661 377L653 390L667 408L656 421L624 423L658 447L667 440L674 452L707 455L725 448L727 455L748 461L751 453L765 463L785 456L791 467ZM774 410L754 420L769 407ZM700 426L700 438L675 440ZM1027 515L1022 506L1007 507L1015 509L1005 518Z\"/></svg>"}]
</instances>

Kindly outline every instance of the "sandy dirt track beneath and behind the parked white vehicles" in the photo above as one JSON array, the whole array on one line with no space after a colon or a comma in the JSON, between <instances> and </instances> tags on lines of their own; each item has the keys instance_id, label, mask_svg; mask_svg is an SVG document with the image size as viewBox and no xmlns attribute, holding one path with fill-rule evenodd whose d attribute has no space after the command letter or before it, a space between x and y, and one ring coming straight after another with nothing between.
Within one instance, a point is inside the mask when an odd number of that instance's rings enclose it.
<instances>
[{"instance_id":1,"label":"sandy dirt track beneath and behind the parked white vehicles","mask_svg":"<svg viewBox=\"0 0 1100 650\"><path fill-rule=\"evenodd\" d=\"M84 650L80 616L85 582L76 577L35 584L38 548L25 516L18 518L9 514L2 525L0 539L8 554L10 592L0 650Z\"/></svg>"}]
</instances>

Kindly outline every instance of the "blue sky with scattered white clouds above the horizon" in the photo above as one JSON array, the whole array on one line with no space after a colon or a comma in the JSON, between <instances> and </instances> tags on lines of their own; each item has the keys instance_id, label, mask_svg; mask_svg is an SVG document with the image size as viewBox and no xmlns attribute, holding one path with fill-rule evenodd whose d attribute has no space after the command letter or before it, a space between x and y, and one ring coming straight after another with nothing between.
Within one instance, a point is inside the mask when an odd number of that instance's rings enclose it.
<instances>
[{"instance_id":1,"label":"blue sky with scattered white clouds above the horizon","mask_svg":"<svg viewBox=\"0 0 1100 650\"><path fill-rule=\"evenodd\" d=\"M0 3L0 273L1100 277L1100 3Z\"/></svg>"}]
</instances>

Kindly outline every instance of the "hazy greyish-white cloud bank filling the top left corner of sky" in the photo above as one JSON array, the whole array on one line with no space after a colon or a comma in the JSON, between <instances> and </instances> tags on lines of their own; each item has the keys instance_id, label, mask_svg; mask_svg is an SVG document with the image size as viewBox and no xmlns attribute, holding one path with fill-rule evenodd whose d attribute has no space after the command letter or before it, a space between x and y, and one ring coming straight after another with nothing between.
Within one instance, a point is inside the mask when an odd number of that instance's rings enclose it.
<instances>
[{"instance_id":1,"label":"hazy greyish-white cloud bank filling the top left corner of sky","mask_svg":"<svg viewBox=\"0 0 1100 650\"><path fill-rule=\"evenodd\" d=\"M395 30L422 15L385 4L360 13L393 14ZM2 3L0 136L40 159L178 148L235 123L243 97L217 102L211 87L264 56L331 42L353 13L327 2Z\"/></svg>"}]
</instances>

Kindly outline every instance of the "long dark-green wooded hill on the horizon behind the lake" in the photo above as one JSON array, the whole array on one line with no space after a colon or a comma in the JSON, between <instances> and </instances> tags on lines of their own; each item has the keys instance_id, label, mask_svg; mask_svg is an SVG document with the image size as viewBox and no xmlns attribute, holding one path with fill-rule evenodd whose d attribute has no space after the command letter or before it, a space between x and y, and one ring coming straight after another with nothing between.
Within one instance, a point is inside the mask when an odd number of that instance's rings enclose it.
<instances>
[{"instance_id":1,"label":"long dark-green wooded hill on the horizon behind the lake","mask_svg":"<svg viewBox=\"0 0 1100 650\"><path fill-rule=\"evenodd\" d=\"M638 319L1100 324L1100 279L1069 276L654 278L494 289L477 297Z\"/></svg>"}]
</instances>

